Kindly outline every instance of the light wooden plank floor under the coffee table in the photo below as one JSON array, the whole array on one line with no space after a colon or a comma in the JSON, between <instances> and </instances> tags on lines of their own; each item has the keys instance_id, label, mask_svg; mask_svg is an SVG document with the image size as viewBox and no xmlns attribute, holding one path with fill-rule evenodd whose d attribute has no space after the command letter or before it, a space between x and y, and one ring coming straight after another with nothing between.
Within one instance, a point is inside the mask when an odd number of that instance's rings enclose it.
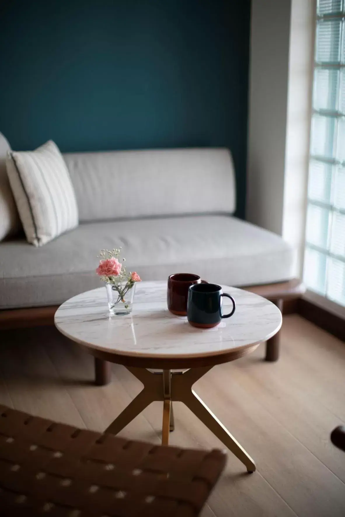
<instances>
[{"instance_id":1,"label":"light wooden plank floor under the coffee table","mask_svg":"<svg viewBox=\"0 0 345 517\"><path fill-rule=\"evenodd\" d=\"M296 315L284 317L277 363L251 356L215 367L196 391L257 462L247 475L229 453L203 517L345 516L345 453L329 440L345 423L345 345ZM93 359L54 328L0 333L0 402L62 422L104 430L141 384L113 365L113 382L93 385ZM159 444L162 404L121 433ZM222 447L175 403L170 443Z\"/></svg>"}]
</instances>

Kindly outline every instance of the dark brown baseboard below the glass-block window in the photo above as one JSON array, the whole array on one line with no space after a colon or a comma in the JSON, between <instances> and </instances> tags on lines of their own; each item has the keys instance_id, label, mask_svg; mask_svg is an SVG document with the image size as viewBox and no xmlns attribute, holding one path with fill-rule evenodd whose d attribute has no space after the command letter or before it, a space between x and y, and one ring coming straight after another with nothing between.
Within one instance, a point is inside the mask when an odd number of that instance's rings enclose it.
<instances>
[{"instance_id":1,"label":"dark brown baseboard below the glass-block window","mask_svg":"<svg viewBox=\"0 0 345 517\"><path fill-rule=\"evenodd\" d=\"M318 327L333 334L338 339L345 341L344 320L332 312L315 305L309 300L299 298L297 301L297 313Z\"/></svg>"}]
</instances>

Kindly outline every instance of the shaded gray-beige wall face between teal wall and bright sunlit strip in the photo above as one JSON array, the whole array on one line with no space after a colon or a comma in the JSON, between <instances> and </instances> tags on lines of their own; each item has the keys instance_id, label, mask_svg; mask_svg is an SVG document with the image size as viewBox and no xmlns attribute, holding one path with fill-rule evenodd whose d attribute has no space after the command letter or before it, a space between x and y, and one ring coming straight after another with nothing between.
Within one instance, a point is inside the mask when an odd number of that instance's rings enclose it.
<instances>
[{"instance_id":1,"label":"shaded gray-beige wall face between teal wall and bright sunlit strip","mask_svg":"<svg viewBox=\"0 0 345 517\"><path fill-rule=\"evenodd\" d=\"M247 219L281 235L291 0L252 0Z\"/></svg>"}]
</instances>

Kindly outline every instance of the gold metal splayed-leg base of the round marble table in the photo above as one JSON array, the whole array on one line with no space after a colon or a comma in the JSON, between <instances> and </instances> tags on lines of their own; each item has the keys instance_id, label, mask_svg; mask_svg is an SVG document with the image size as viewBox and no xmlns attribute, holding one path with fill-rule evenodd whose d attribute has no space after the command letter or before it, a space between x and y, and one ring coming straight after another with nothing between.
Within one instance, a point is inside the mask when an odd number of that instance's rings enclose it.
<instances>
[{"instance_id":1,"label":"gold metal splayed-leg base of the round marble table","mask_svg":"<svg viewBox=\"0 0 345 517\"><path fill-rule=\"evenodd\" d=\"M212 366L192 368L184 372L162 370L155 373L144 368L128 366L126 368L143 383L144 388L109 425L106 433L119 433L151 402L163 401L162 445L168 445L169 432L174 430L172 403L173 401L183 402L236 458L242 461L249 473L256 470L256 465L249 454L192 389L193 384L211 370Z\"/></svg>"}]
</instances>

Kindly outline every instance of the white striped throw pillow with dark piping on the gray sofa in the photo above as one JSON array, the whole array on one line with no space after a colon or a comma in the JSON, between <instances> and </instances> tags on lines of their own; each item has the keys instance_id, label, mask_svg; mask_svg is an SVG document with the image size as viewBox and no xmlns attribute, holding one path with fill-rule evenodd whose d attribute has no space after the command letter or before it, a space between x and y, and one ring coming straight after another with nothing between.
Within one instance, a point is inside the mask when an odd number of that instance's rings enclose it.
<instances>
[{"instance_id":1,"label":"white striped throw pillow with dark piping on the gray sofa","mask_svg":"<svg viewBox=\"0 0 345 517\"><path fill-rule=\"evenodd\" d=\"M10 151L6 168L28 242L42 246L78 226L76 196L54 142L34 151Z\"/></svg>"}]
</instances>

